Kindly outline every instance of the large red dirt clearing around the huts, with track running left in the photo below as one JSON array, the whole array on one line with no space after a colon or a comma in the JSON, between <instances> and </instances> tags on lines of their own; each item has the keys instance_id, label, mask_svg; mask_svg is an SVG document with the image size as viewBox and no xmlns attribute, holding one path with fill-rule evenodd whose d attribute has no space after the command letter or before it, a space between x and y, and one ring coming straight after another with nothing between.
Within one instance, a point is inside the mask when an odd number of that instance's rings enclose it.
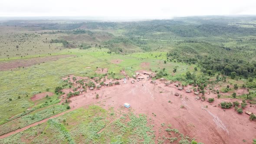
<instances>
[{"instance_id":1,"label":"large red dirt clearing around the huts, with track running left","mask_svg":"<svg viewBox=\"0 0 256 144\"><path fill-rule=\"evenodd\" d=\"M249 121L249 115L245 113L240 115L234 111L234 108L223 111L223 109L218 106L221 101L232 102L234 99L218 99L216 98L216 94L208 91L205 97L215 98L213 103L209 103L207 100L195 100L196 95L194 95L193 92L185 92L191 87L190 85L180 91L177 90L174 83L166 86L164 82L156 80L156 83L152 84L150 83L151 80L147 80L148 75L141 76L144 76L145 79L139 82L135 81L134 84L131 83L133 79L128 79L126 80L126 84L123 83L122 80L119 80L120 85L103 86L100 89L95 88L94 90L87 89L87 92L69 98L71 101L70 111L91 104L99 105L107 109L114 107L115 110L118 110L118 108L122 107L123 104L127 102L131 105L130 109L136 114L146 114L152 118L154 121L154 131L156 131L156 140L158 137L165 134L165 132L159 134L158 131L162 123L166 125L171 124L173 128L177 128L181 133L195 137L197 141L205 144L238 144L243 143L243 139L250 142L256 137L256 133L254 132L256 131L256 122ZM87 77L76 78L92 80ZM70 81L74 82L71 79L72 75L70 76ZM107 82L110 81L115 82L115 80L108 80ZM71 89L63 90L65 93L69 91L72 92ZM180 95L175 96L174 93L176 92ZM99 95L98 99L96 99L97 94ZM62 95L62 97L64 100L66 96ZM169 103L168 101L171 102ZM184 108L181 108L181 106ZM256 113L256 106L247 106L243 111L246 110ZM63 115L64 113L59 115ZM55 118L59 115L51 118ZM48 119L49 118L11 132L11 134L24 131ZM9 135L10 133L2 135L0 138Z\"/></svg>"}]
</instances>

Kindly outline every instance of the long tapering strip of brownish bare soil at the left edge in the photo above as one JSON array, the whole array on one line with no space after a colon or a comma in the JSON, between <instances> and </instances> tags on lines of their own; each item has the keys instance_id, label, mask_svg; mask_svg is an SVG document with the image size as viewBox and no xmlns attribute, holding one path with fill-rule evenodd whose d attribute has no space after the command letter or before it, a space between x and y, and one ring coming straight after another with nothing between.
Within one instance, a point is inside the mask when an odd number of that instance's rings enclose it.
<instances>
[{"instance_id":1,"label":"long tapering strip of brownish bare soil at the left edge","mask_svg":"<svg viewBox=\"0 0 256 144\"><path fill-rule=\"evenodd\" d=\"M69 56L71 55L43 56L43 57L36 57L36 58L29 58L29 59L17 59L17 60L11 60L7 62L0 62L0 71L16 69L23 66L28 67L38 63L55 61L61 58L69 57Z\"/></svg>"}]
</instances>

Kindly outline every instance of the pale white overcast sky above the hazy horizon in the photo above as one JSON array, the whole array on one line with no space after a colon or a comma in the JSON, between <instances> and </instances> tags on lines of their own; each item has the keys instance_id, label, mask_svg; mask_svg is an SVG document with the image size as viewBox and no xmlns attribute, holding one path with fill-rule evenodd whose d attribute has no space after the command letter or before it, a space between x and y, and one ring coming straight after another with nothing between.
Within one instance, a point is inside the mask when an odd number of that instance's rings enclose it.
<instances>
[{"instance_id":1,"label":"pale white overcast sky above the hazy horizon","mask_svg":"<svg viewBox=\"0 0 256 144\"><path fill-rule=\"evenodd\" d=\"M168 19L174 16L255 14L256 0L0 0L0 17Z\"/></svg>"}]
</instances>

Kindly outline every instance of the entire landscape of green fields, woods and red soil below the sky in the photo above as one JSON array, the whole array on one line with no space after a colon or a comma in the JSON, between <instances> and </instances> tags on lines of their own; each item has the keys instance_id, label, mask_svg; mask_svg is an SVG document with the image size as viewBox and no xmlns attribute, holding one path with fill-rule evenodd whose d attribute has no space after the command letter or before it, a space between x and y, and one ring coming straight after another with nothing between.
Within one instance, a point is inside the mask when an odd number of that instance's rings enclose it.
<instances>
[{"instance_id":1,"label":"entire landscape of green fields, woods and red soil below the sky","mask_svg":"<svg viewBox=\"0 0 256 144\"><path fill-rule=\"evenodd\" d=\"M0 22L0 143L251 144L253 19Z\"/></svg>"}]
</instances>

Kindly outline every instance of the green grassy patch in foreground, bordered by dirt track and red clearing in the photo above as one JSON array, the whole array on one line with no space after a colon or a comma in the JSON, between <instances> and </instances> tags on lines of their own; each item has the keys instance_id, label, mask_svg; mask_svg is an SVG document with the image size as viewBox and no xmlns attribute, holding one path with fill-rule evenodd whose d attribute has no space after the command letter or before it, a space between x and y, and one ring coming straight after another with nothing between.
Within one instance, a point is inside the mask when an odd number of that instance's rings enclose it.
<instances>
[{"instance_id":1,"label":"green grassy patch in foreground, bordered by dirt track and red clearing","mask_svg":"<svg viewBox=\"0 0 256 144\"><path fill-rule=\"evenodd\" d=\"M11 137L8 143L147 143L154 144L154 131L145 115L115 114L98 106L79 108Z\"/></svg>"}]
</instances>

